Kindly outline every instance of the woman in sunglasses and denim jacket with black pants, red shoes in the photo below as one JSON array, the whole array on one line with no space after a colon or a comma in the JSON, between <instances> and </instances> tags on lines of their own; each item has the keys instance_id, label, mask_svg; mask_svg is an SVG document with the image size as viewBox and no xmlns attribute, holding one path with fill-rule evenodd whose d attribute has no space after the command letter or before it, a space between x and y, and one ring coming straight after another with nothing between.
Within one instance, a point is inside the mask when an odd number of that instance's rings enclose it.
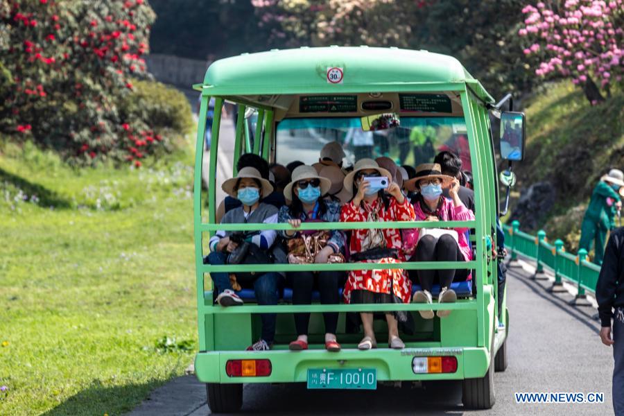
<instances>
[{"instance_id":1,"label":"woman in sunglasses and denim jacket with black pants, red shoes","mask_svg":"<svg viewBox=\"0 0 624 416\"><path fill-rule=\"evenodd\" d=\"M279 222L289 223L299 228L302 222L320 221L337 223L340 220L340 204L332 200L321 198L329 191L331 182L321 177L312 166L302 165L293 171L293 182L284 188L284 197L291 200L291 205L281 207ZM293 239L302 233L288 229L279 232L284 239ZM328 263L332 254L343 252L345 236L343 232L333 230L329 234L327 245L316 253L315 263ZM312 303L313 288L318 288L321 304L338 304L338 287L343 281L343 272L288 272L286 278L293 288L293 304L309 305ZM325 348L331 352L340 351L340 344L336 341L336 326L338 313L323 313L325 322ZM295 313L295 329L297 339L290 344L290 349L300 351L308 349L309 313Z\"/></svg>"}]
</instances>

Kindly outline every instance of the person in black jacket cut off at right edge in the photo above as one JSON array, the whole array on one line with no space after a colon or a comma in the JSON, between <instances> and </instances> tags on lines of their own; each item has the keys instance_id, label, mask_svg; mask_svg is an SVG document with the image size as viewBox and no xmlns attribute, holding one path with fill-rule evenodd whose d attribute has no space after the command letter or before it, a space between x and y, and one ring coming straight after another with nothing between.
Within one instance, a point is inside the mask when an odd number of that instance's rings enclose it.
<instances>
[{"instance_id":1,"label":"person in black jacket cut off at right edge","mask_svg":"<svg viewBox=\"0 0 624 416\"><path fill-rule=\"evenodd\" d=\"M609 237L603 267L596 284L596 302L600 315L600 340L613 347L613 409L624 416L624 228ZM612 324L613 320L613 324ZM613 332L613 337L612 337Z\"/></svg>"}]
</instances>

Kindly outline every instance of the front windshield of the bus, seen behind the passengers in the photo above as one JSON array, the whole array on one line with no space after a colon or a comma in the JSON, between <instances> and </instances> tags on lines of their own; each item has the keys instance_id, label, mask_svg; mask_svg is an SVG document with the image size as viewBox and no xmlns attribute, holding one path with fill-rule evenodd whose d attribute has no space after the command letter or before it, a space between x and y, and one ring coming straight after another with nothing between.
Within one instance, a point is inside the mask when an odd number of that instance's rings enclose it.
<instances>
[{"instance_id":1,"label":"front windshield of the bus, seen behind the passengers","mask_svg":"<svg viewBox=\"0 0 624 416\"><path fill-rule=\"evenodd\" d=\"M338 141L345 148L347 165L363 157L388 156L397 164L417 166L449 150L462 159L463 170L471 171L463 117L401 116L400 123L398 128L365 132L358 117L284 119L277 123L276 162L313 164L325 144Z\"/></svg>"}]
</instances>

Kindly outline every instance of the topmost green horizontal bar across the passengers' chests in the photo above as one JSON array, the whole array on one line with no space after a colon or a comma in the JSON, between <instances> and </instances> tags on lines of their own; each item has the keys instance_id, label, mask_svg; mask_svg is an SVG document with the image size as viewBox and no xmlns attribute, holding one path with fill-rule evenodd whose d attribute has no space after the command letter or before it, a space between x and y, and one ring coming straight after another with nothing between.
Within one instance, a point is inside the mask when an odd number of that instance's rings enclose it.
<instances>
[{"instance_id":1,"label":"topmost green horizontal bar across the passengers' chests","mask_svg":"<svg viewBox=\"0 0 624 416\"><path fill-rule=\"evenodd\" d=\"M295 229L288 223L207 224L199 226L201 231L262 231L266 229ZM297 230L309 229L376 229L376 228L475 228L476 221L370 221L364 223L302 223Z\"/></svg>"}]
</instances>

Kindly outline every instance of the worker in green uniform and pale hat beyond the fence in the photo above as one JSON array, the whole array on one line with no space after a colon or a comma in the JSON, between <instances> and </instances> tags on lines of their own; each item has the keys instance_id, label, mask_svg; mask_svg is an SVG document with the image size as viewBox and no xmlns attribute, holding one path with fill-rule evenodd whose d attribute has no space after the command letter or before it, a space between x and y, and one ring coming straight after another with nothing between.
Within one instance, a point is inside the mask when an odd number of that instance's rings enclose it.
<instances>
[{"instance_id":1,"label":"worker in green uniform and pale hat beyond the fence","mask_svg":"<svg viewBox=\"0 0 624 416\"><path fill-rule=\"evenodd\" d=\"M591 193L589 207L585 211L581 226L581 239L578 248L589 252L591 243L594 244L593 263L603 263L607 231L615 227L615 217L622 207L620 191L624 187L624 173L619 169L612 169L607 175L600 178L600 182ZM622 189L624 191L624 189Z\"/></svg>"}]
</instances>

